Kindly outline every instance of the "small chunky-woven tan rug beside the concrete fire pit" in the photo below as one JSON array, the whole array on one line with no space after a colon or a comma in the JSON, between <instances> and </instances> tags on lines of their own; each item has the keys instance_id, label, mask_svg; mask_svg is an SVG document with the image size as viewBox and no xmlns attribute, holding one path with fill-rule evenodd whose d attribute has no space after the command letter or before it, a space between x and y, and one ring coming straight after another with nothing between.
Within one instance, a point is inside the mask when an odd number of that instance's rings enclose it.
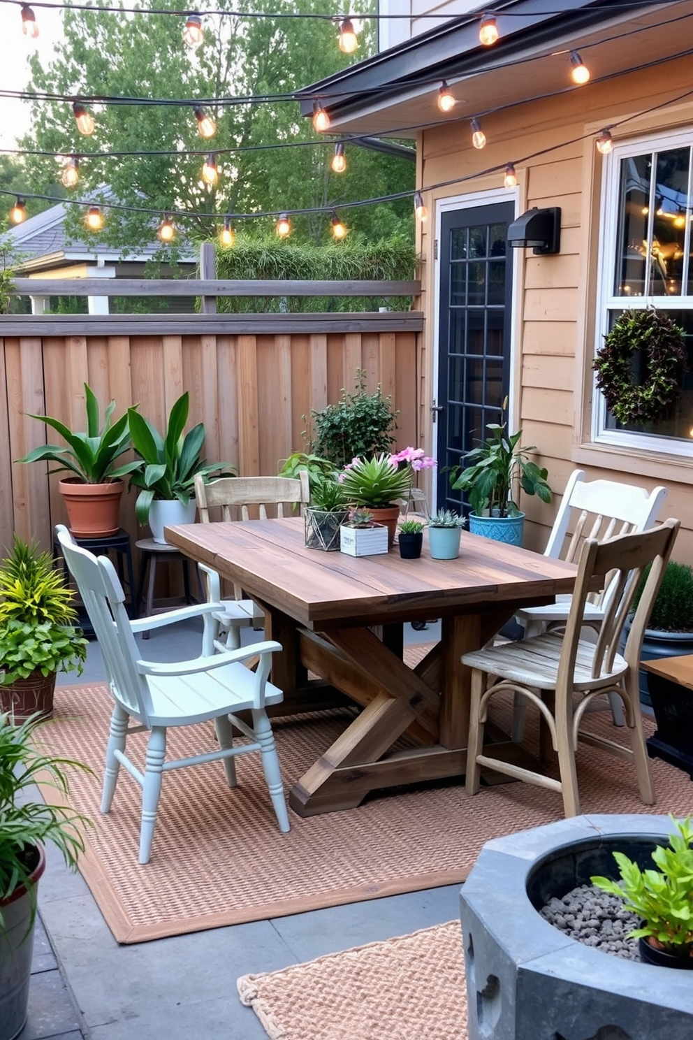
<instances>
[{"instance_id":1,"label":"small chunky-woven tan rug beside the concrete fire pit","mask_svg":"<svg viewBox=\"0 0 693 1040\"><path fill-rule=\"evenodd\" d=\"M464 1040L459 921L267 974L238 992L271 1040Z\"/></svg>"}]
</instances>

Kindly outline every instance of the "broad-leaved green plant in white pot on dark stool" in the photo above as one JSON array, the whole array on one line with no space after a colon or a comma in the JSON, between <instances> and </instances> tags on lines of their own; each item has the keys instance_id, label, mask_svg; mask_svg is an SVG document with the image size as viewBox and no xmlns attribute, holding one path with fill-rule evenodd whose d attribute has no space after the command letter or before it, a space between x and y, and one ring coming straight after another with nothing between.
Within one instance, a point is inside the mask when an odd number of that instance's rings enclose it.
<instances>
[{"instance_id":1,"label":"broad-leaved green plant in white pot on dark stool","mask_svg":"<svg viewBox=\"0 0 693 1040\"><path fill-rule=\"evenodd\" d=\"M209 464L202 458L205 425L198 422L185 436L188 392L175 402L162 437L156 426L131 408L128 410L130 436L139 461L130 474L130 484L140 488L135 502L137 521L149 523L155 542L166 545L165 526L192 523L195 518L195 473L231 476L226 463Z\"/></svg>"}]
</instances>

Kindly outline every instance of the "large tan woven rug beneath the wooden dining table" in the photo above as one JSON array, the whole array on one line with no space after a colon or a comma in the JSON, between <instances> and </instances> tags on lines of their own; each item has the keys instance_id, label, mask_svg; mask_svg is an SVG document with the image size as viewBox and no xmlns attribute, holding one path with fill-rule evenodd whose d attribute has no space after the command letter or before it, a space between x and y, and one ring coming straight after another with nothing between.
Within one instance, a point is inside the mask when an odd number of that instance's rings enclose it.
<instances>
[{"instance_id":1,"label":"large tan woven rug beneath the wooden dining table","mask_svg":"<svg viewBox=\"0 0 693 1040\"><path fill-rule=\"evenodd\" d=\"M41 738L49 750L94 770L73 773L70 801L94 822L80 870L118 942L461 882L489 838L562 816L560 796L551 790L508 783L468 798L461 782L451 782L376 792L356 809L306 820L290 810L291 831L281 834L260 755L243 755L234 789L219 762L165 775L152 860L140 866L141 791L125 770L110 813L99 811L111 707L104 685L58 687L54 720L41 728ZM608 712L592 718L595 728L613 733ZM349 720L336 711L274 723L287 788ZM509 728L508 718L505 723ZM211 724L168 734L170 758L214 747ZM529 720L527 735L533 738ZM145 739L137 734L128 740L137 762L144 761ZM687 774L661 761L652 761L652 773L657 811L688 815ZM625 761L581 748L579 778L583 812L647 811ZM54 788L44 794L57 800Z\"/></svg>"}]
</instances>

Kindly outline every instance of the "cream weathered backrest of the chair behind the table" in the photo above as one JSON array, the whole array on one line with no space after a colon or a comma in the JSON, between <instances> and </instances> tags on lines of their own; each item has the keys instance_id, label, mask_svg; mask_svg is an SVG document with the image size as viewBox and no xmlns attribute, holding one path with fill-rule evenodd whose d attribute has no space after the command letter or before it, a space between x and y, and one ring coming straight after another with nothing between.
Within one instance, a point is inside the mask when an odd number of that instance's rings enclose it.
<instances>
[{"instance_id":1,"label":"cream weathered backrest of the chair behind the table","mask_svg":"<svg viewBox=\"0 0 693 1040\"><path fill-rule=\"evenodd\" d=\"M205 484L195 476L195 499L203 523L210 523L210 509L220 506L222 520L248 520L248 505L257 505L261 520L267 519L267 505L276 506L276 516L284 516L285 504L306 504L310 501L308 473L291 476L225 476Z\"/></svg>"}]
</instances>

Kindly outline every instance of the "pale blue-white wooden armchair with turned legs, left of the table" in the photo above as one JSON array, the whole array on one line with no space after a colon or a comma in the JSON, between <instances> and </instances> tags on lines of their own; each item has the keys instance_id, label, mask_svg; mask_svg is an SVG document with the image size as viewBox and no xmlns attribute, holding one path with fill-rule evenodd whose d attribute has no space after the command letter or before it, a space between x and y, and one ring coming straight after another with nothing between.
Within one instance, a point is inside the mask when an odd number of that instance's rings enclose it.
<instances>
[{"instance_id":1,"label":"pale blue-white wooden armchair with turned legs, left of the table","mask_svg":"<svg viewBox=\"0 0 693 1040\"><path fill-rule=\"evenodd\" d=\"M278 643L256 643L245 650L214 652L218 603L187 606L139 621L130 621L123 587L106 556L95 556L75 544L62 524L56 527L65 563L77 582L103 654L106 675L115 701L111 714L101 811L108 812L115 794L121 765L142 788L139 862L148 863L152 850L163 774L185 765L221 759L230 787L236 786L235 756L260 751L267 787L279 830L289 830L279 760L265 705L278 704L284 694L268 681L272 653ZM135 632L161 628L188 618L202 617L202 654L192 660L159 664L143 660ZM243 660L259 656L257 671ZM238 719L249 710L252 725ZM137 725L131 727L134 720ZM217 745L189 758L166 761L166 730L214 721ZM234 726L249 740L234 745ZM130 733L150 731L144 771L126 754Z\"/></svg>"}]
</instances>

